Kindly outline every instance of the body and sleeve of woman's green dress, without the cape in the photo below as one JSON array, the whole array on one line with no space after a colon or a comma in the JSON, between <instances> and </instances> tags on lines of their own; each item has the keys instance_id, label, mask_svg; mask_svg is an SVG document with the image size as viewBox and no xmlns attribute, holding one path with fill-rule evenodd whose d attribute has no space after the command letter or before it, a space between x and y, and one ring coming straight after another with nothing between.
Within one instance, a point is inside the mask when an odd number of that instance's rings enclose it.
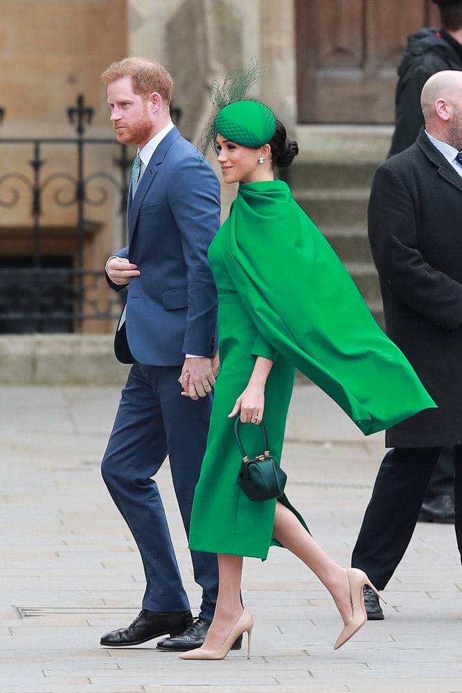
<instances>
[{"instance_id":1,"label":"body and sleeve of woman's green dress, without the cape","mask_svg":"<svg viewBox=\"0 0 462 693\"><path fill-rule=\"evenodd\" d=\"M234 437L235 419L228 419L234 403L245 389L259 356L272 356L258 334L245 304L236 291L224 263L228 238L226 227L217 232L208 252L218 291L220 374L207 450L202 463L193 505L190 546L225 554L265 559L272 543L275 500L253 502L238 485L242 457ZM265 348L266 347L266 348ZM265 387L265 412L269 449L279 463L285 420L294 385L295 369L283 357L276 358ZM263 453L260 428L240 426L242 444L249 457Z\"/></svg>"}]
</instances>

